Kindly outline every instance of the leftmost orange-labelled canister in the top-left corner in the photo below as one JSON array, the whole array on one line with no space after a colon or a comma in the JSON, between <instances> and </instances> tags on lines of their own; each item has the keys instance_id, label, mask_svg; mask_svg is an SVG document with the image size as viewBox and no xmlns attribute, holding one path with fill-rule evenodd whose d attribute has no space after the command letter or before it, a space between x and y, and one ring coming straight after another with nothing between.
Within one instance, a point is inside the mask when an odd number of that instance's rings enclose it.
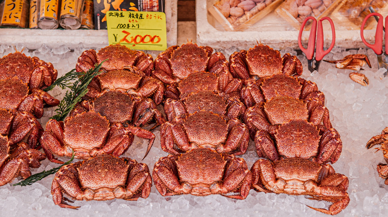
<instances>
[{"instance_id":1,"label":"leftmost orange-labelled canister in the top-left corner","mask_svg":"<svg viewBox=\"0 0 388 217\"><path fill-rule=\"evenodd\" d=\"M1 26L28 27L28 0L4 0L1 5Z\"/></svg>"}]
</instances>

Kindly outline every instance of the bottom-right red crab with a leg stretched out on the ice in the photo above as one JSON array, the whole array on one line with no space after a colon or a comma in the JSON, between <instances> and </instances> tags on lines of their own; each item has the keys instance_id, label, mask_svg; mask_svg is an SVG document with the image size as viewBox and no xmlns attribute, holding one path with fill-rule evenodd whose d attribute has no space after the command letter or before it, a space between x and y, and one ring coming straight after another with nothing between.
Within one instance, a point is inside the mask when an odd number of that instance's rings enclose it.
<instances>
[{"instance_id":1,"label":"bottom-right red crab with a leg stretched out on the ice","mask_svg":"<svg viewBox=\"0 0 388 217\"><path fill-rule=\"evenodd\" d=\"M349 180L336 173L329 164L313 163L307 159L287 158L271 162L260 159L253 164L252 187L256 191L308 195L313 200L332 202L328 210L311 209L324 214L336 215L349 204L346 192Z\"/></svg>"}]
</instances>

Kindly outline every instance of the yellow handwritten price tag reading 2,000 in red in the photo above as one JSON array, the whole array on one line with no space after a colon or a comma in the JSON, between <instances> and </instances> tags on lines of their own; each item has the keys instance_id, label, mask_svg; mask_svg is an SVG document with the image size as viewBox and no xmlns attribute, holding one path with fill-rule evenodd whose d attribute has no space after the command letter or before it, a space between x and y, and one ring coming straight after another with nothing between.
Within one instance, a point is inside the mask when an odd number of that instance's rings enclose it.
<instances>
[{"instance_id":1,"label":"yellow handwritten price tag reading 2,000 in red","mask_svg":"<svg viewBox=\"0 0 388 217\"><path fill-rule=\"evenodd\" d=\"M166 14L152 11L108 11L109 45L120 44L134 50L167 49Z\"/></svg>"}]
</instances>

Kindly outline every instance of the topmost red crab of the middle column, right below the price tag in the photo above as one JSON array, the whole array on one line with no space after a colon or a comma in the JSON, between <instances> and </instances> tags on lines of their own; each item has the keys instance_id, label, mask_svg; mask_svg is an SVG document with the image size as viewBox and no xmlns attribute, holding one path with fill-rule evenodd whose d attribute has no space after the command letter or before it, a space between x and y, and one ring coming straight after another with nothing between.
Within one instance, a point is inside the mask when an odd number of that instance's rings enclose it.
<instances>
[{"instance_id":1,"label":"topmost red crab of the middle column, right below the price tag","mask_svg":"<svg viewBox=\"0 0 388 217\"><path fill-rule=\"evenodd\" d=\"M152 74L165 84L174 84L196 71L208 71L216 75L228 71L225 56L212 52L212 48L197 46L192 42L181 47L172 46L155 59Z\"/></svg>"}]
</instances>

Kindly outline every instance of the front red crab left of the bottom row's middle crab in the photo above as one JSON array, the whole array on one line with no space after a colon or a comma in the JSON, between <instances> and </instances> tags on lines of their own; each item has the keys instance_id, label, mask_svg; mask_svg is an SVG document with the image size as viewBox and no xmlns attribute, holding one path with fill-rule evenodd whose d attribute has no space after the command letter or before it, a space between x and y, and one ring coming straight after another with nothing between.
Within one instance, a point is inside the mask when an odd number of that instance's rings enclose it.
<instances>
[{"instance_id":1,"label":"front red crab left of the bottom row's middle crab","mask_svg":"<svg viewBox=\"0 0 388 217\"><path fill-rule=\"evenodd\" d=\"M77 209L65 201L113 200L136 201L150 195L152 179L148 166L129 158L99 155L92 159L62 166L55 174L51 194L55 205Z\"/></svg>"}]
</instances>

